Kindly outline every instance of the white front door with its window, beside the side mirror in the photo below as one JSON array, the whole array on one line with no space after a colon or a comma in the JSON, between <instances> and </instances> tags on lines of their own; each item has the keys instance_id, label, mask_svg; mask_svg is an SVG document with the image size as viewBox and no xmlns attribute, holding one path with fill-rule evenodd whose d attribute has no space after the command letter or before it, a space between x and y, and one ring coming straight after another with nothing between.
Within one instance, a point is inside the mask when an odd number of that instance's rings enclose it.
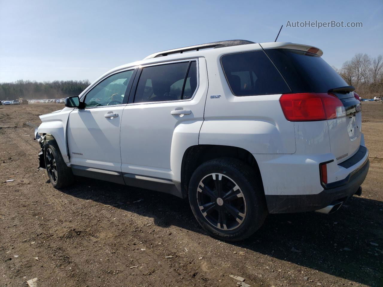
<instances>
[{"instance_id":1,"label":"white front door with its window, beside the side mirror","mask_svg":"<svg viewBox=\"0 0 383 287\"><path fill-rule=\"evenodd\" d=\"M70 113L68 148L75 174L97 177L99 173L100 179L121 181L120 125L133 72L101 80L82 99L85 109Z\"/></svg>"}]
</instances>

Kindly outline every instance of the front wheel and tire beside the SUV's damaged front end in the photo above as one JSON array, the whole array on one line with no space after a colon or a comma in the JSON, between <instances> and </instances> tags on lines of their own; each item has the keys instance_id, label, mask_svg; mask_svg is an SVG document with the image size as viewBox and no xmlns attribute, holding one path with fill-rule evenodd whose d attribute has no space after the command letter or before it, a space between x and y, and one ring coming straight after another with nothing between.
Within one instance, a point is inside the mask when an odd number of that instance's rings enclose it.
<instances>
[{"instance_id":1,"label":"front wheel and tire beside the SUV's damaged front end","mask_svg":"<svg viewBox=\"0 0 383 287\"><path fill-rule=\"evenodd\" d=\"M74 182L74 175L62 158L56 140L49 140L44 145L45 167L54 188L64 188Z\"/></svg>"}]
</instances>

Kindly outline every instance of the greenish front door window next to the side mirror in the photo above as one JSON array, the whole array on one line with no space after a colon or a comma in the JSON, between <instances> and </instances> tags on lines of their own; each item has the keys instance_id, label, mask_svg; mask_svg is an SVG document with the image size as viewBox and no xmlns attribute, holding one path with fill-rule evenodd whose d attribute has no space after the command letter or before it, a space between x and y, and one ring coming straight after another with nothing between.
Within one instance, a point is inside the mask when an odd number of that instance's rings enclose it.
<instances>
[{"instance_id":1,"label":"greenish front door window next to the side mirror","mask_svg":"<svg viewBox=\"0 0 383 287\"><path fill-rule=\"evenodd\" d=\"M133 71L116 73L98 83L85 96L85 108L122 104Z\"/></svg>"}]
</instances>

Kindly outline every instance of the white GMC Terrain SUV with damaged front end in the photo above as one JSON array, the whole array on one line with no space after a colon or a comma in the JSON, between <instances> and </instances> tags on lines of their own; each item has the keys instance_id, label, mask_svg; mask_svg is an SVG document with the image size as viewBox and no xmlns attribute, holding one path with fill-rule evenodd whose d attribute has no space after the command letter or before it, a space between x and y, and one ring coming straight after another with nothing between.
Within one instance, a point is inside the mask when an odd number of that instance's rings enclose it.
<instances>
[{"instance_id":1,"label":"white GMC Terrain SUV with damaged front end","mask_svg":"<svg viewBox=\"0 0 383 287\"><path fill-rule=\"evenodd\" d=\"M333 212L369 162L359 97L322 54L232 40L122 65L40 116L40 166L56 188L86 176L188 197L224 240L268 213Z\"/></svg>"}]
</instances>

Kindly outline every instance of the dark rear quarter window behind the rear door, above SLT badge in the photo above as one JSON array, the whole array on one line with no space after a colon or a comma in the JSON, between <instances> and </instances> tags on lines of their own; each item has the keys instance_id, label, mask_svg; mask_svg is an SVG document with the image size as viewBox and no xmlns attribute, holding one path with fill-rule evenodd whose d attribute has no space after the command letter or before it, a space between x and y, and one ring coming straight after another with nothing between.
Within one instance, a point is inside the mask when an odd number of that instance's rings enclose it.
<instances>
[{"instance_id":1,"label":"dark rear quarter window behind the rear door, above SLT badge","mask_svg":"<svg viewBox=\"0 0 383 287\"><path fill-rule=\"evenodd\" d=\"M264 51L228 54L222 67L236 96L290 93L290 89Z\"/></svg>"}]
</instances>

